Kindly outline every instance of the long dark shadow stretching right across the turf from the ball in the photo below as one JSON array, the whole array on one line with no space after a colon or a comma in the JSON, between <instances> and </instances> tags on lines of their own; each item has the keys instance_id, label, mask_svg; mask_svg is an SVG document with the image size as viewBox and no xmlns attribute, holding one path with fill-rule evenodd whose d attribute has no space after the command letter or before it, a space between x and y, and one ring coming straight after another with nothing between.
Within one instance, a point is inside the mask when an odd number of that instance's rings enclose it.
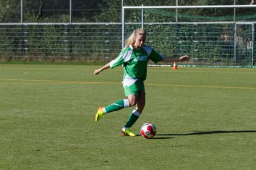
<instances>
[{"instance_id":1,"label":"long dark shadow stretching right across the turf from the ball","mask_svg":"<svg viewBox=\"0 0 256 170\"><path fill-rule=\"evenodd\" d=\"M203 132L190 132L190 133L170 133L170 134L156 134L154 139L171 139L174 137L169 136L188 136L188 135L211 135L211 134L223 134L223 133L250 133L256 132L256 130L215 130L215 131L203 131ZM159 137L165 136L165 137Z\"/></svg>"}]
</instances>

